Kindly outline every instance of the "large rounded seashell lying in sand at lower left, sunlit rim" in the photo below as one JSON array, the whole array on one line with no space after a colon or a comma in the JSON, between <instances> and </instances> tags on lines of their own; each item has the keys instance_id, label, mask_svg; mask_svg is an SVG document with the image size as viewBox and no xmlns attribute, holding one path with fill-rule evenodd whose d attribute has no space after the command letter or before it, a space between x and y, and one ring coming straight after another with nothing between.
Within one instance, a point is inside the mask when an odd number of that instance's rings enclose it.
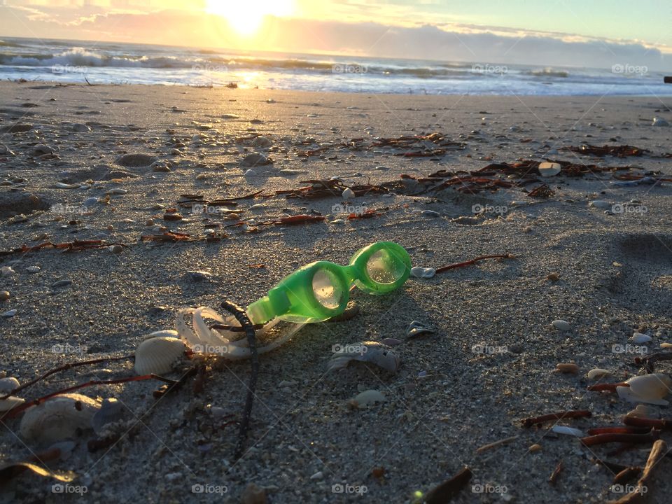
<instances>
[{"instance_id":1,"label":"large rounded seashell lying in sand at lower left, sunlit rim","mask_svg":"<svg viewBox=\"0 0 672 504\"><path fill-rule=\"evenodd\" d=\"M100 403L86 395L56 395L26 411L20 432L26 439L44 444L74 439L80 430L91 428L99 408Z\"/></svg>"}]
</instances>

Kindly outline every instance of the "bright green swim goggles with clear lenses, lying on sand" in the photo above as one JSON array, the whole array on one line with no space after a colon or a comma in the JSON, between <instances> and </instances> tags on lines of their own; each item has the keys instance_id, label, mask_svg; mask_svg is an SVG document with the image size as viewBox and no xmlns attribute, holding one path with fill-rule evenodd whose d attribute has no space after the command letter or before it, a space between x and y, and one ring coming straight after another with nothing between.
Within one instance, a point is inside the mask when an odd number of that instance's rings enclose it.
<instances>
[{"instance_id":1,"label":"bright green swim goggles with clear lenses, lying on sand","mask_svg":"<svg viewBox=\"0 0 672 504\"><path fill-rule=\"evenodd\" d=\"M247 307L252 323L273 318L290 322L320 322L342 314L353 283L370 294L386 294L408 279L411 258L405 248L391 241L379 241L361 248L350 265L311 262Z\"/></svg>"}]
</instances>

